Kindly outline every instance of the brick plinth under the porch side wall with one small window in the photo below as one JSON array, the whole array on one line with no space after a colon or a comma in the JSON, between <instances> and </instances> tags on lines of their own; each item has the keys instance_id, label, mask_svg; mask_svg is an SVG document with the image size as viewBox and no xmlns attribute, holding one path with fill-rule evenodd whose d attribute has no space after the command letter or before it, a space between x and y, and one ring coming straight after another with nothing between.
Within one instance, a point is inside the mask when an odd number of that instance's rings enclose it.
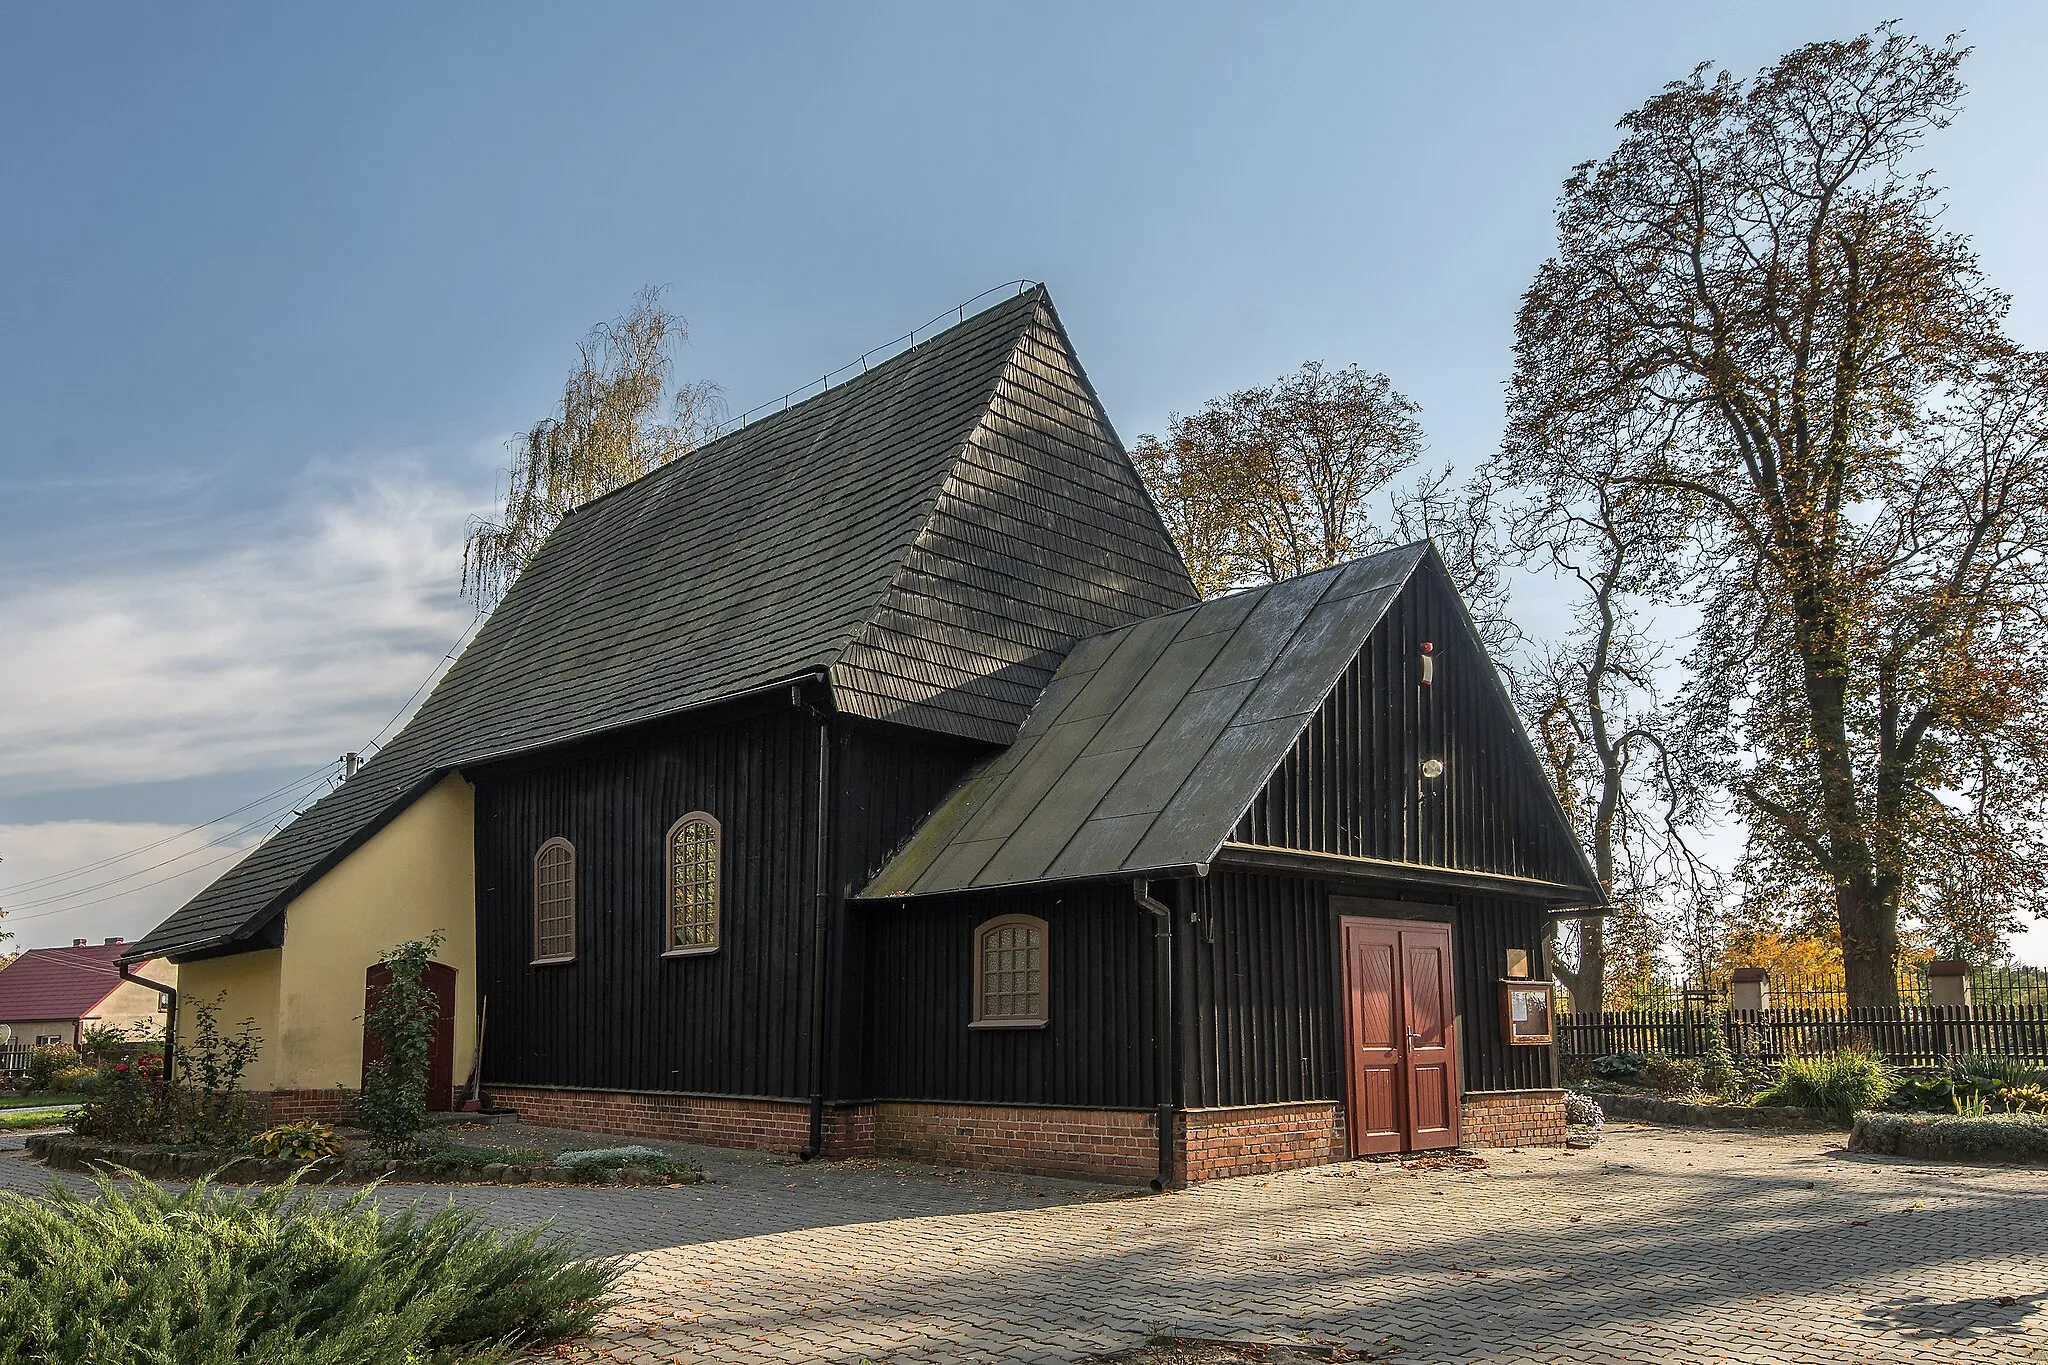
<instances>
[{"instance_id":1,"label":"brick plinth under the porch side wall with one small window","mask_svg":"<svg viewBox=\"0 0 2048 1365\"><path fill-rule=\"evenodd\" d=\"M874 1105L874 1154L1141 1185L1159 1173L1153 1115L1024 1105Z\"/></svg>"}]
</instances>

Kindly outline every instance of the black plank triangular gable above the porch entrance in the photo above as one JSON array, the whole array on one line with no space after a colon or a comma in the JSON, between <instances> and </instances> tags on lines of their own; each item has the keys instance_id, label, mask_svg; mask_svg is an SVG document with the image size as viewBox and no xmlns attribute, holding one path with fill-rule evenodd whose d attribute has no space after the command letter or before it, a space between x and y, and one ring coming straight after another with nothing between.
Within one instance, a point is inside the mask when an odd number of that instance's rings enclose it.
<instances>
[{"instance_id":1,"label":"black plank triangular gable above the porch entrance","mask_svg":"<svg viewBox=\"0 0 2048 1365\"><path fill-rule=\"evenodd\" d=\"M1231 831L1239 843L1575 884L1569 831L1491 659L1440 573L1421 571ZM1436 681L1421 686L1421 647ZM1421 780L1425 759L1444 776Z\"/></svg>"}]
</instances>

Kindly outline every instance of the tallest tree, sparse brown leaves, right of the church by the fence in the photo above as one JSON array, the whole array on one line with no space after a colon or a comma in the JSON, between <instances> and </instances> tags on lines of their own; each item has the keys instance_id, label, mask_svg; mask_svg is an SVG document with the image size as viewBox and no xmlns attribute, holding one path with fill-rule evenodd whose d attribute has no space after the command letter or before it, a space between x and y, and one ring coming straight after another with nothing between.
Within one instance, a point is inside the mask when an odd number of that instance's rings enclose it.
<instances>
[{"instance_id":1,"label":"tallest tree, sparse brown leaves, right of the church by the fence","mask_svg":"<svg viewBox=\"0 0 2048 1365\"><path fill-rule=\"evenodd\" d=\"M1886 27L1673 82L1565 182L1516 319L1509 456L1655 430L1616 483L1698 508L1688 720L1853 1005L1896 1001L1903 911L2044 894L2048 385L1905 168L1964 55Z\"/></svg>"}]
</instances>

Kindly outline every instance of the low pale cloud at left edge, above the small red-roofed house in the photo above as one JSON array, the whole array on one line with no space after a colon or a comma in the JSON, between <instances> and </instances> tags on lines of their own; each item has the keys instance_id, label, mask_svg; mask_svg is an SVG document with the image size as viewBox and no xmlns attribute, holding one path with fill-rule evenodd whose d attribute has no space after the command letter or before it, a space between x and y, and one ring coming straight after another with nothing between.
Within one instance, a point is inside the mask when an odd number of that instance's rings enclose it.
<instances>
[{"instance_id":1,"label":"low pale cloud at left edge, above the small red-roofed house","mask_svg":"<svg viewBox=\"0 0 2048 1365\"><path fill-rule=\"evenodd\" d=\"M254 814L254 812L252 812ZM139 939L270 833L233 827L53 821L0 825L0 929L8 950Z\"/></svg>"}]
</instances>

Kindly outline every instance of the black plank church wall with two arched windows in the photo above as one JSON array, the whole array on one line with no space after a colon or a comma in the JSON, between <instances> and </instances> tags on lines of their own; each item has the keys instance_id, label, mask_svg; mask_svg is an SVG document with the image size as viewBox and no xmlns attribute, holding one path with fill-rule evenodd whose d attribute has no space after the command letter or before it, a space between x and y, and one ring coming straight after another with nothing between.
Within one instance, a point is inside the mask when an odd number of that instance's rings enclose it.
<instances>
[{"instance_id":1,"label":"black plank church wall with two arched windows","mask_svg":"<svg viewBox=\"0 0 2048 1365\"><path fill-rule=\"evenodd\" d=\"M780 708L655 729L477 782L485 1081L809 1093L817 729ZM723 825L721 948L664 958L664 835ZM575 962L532 962L532 853L575 845Z\"/></svg>"}]
</instances>

